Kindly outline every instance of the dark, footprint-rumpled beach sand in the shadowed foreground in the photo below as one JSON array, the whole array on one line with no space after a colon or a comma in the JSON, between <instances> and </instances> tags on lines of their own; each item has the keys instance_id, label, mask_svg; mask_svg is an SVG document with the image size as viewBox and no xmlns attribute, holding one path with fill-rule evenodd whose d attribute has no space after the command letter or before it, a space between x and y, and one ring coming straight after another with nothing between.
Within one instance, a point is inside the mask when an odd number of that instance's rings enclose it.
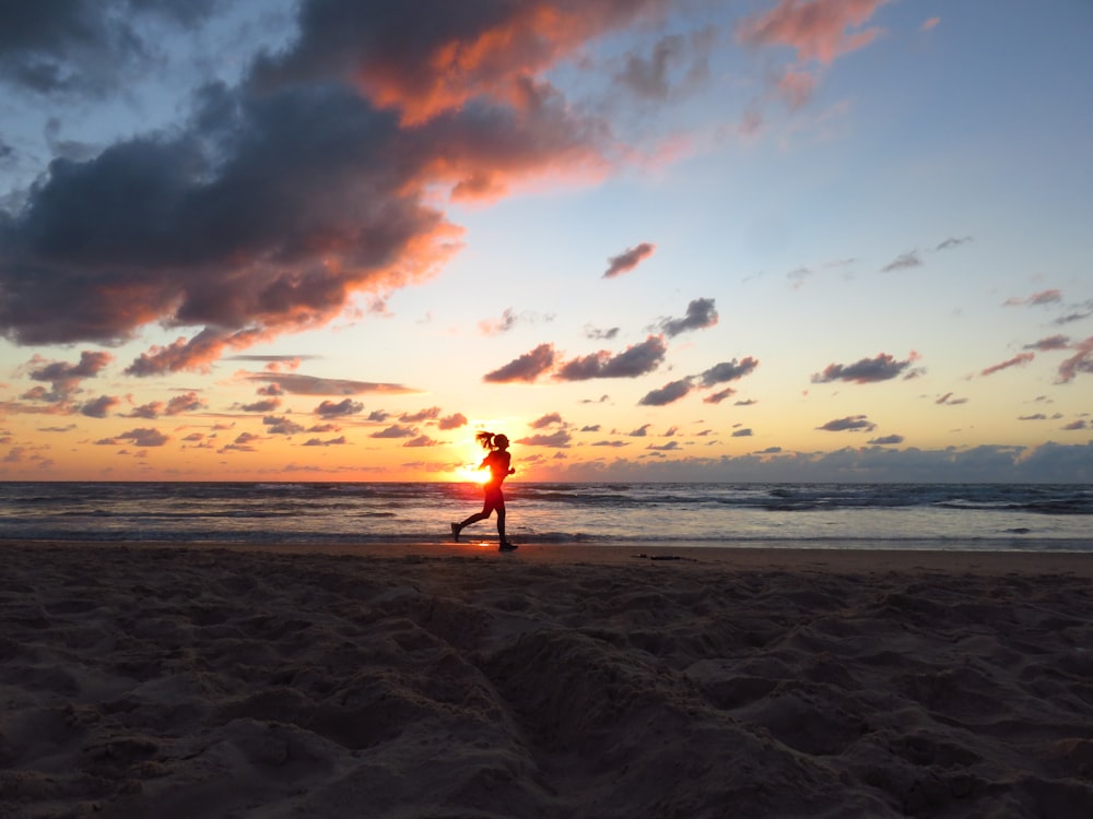
<instances>
[{"instance_id":1,"label":"dark, footprint-rumpled beach sand in the shadowed foreground","mask_svg":"<svg viewBox=\"0 0 1093 819\"><path fill-rule=\"evenodd\" d=\"M1093 555L493 548L0 544L0 817L1093 816Z\"/></svg>"}]
</instances>

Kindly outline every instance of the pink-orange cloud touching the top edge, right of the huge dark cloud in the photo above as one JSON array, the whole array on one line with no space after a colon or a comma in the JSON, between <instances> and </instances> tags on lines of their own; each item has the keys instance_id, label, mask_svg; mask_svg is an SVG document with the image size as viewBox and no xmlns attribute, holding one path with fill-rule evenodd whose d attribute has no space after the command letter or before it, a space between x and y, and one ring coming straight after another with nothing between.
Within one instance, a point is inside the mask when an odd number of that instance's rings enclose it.
<instances>
[{"instance_id":1,"label":"pink-orange cloud touching the top edge, right of the huge dark cloud","mask_svg":"<svg viewBox=\"0 0 1093 819\"><path fill-rule=\"evenodd\" d=\"M886 0L780 0L745 19L737 38L747 45L787 46L801 62L830 63L872 43L880 28L861 28Z\"/></svg>"}]
</instances>

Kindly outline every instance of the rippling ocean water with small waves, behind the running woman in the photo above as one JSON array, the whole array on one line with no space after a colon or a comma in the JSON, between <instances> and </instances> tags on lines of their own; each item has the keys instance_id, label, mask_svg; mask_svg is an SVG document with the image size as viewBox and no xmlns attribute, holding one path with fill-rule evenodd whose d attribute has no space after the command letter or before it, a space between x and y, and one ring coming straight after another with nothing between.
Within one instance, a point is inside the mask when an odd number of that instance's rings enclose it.
<instances>
[{"instance_id":1,"label":"rippling ocean water with small waves, behind the running woman","mask_svg":"<svg viewBox=\"0 0 1093 819\"><path fill-rule=\"evenodd\" d=\"M519 543L1093 551L1093 487L506 484ZM474 484L0 483L0 539L433 543ZM495 541L495 519L463 532Z\"/></svg>"}]
</instances>

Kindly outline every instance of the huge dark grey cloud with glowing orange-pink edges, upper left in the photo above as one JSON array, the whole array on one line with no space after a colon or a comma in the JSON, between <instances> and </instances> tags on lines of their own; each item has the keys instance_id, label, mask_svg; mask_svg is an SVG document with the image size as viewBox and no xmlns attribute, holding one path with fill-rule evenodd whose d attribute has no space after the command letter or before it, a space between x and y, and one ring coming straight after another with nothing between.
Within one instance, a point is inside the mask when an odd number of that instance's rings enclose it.
<instances>
[{"instance_id":1,"label":"huge dark grey cloud with glowing orange-pink edges, upper left","mask_svg":"<svg viewBox=\"0 0 1093 819\"><path fill-rule=\"evenodd\" d=\"M102 21L124 26L128 8L66 5L99 21L87 35L99 47L114 36ZM610 128L546 72L663 5L420 0L407 14L301 2L298 36L245 64L237 84L205 84L172 127L54 159L25 206L3 213L0 333L42 345L186 329L127 370L161 375L431 277L461 233L437 191L496 195L607 167ZM22 43L64 36L34 19ZM120 60L116 76L133 75L116 50L106 57Z\"/></svg>"}]
</instances>

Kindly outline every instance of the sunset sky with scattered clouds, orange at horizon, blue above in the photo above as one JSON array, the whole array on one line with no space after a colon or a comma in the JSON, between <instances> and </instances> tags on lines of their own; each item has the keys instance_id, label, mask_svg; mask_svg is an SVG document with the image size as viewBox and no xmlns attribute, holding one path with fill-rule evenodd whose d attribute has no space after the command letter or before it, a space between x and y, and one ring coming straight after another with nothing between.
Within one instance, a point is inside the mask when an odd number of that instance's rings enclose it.
<instances>
[{"instance_id":1,"label":"sunset sky with scattered clouds, orange at horizon, blue above","mask_svg":"<svg viewBox=\"0 0 1093 819\"><path fill-rule=\"evenodd\" d=\"M0 1L0 479L1093 479L1089 0Z\"/></svg>"}]
</instances>

